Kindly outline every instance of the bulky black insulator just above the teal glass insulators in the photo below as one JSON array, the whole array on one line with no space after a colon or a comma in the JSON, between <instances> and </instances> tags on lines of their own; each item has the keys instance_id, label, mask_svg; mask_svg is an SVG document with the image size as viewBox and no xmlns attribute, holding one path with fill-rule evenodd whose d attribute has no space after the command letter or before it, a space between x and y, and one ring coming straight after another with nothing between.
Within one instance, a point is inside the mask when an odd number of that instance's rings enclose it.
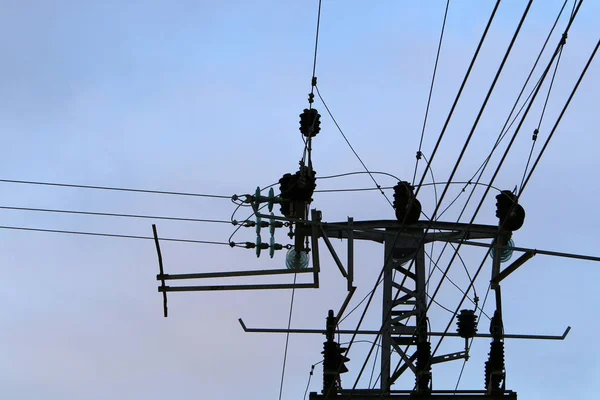
<instances>
[{"instance_id":1,"label":"bulky black insulator just above the teal glass insulators","mask_svg":"<svg viewBox=\"0 0 600 400\"><path fill-rule=\"evenodd\" d=\"M283 175L279 180L281 213L288 218L306 219L306 206L312 202L316 182L316 172L304 165L293 175Z\"/></svg>"}]
</instances>

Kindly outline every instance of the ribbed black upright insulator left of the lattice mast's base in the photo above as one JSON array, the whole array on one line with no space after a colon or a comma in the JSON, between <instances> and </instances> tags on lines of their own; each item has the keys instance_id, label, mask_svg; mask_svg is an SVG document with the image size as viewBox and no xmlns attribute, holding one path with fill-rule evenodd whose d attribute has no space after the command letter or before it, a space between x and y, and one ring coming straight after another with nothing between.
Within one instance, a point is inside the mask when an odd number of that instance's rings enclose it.
<instances>
[{"instance_id":1,"label":"ribbed black upright insulator left of the lattice mast's base","mask_svg":"<svg viewBox=\"0 0 600 400\"><path fill-rule=\"evenodd\" d=\"M335 342L336 318L333 310L329 310L327 316L327 325L325 337L327 340L323 343L323 394L327 398L337 396L340 390L340 374L348 372L346 362L350 359L344 356L347 349L340 347Z\"/></svg>"}]
</instances>

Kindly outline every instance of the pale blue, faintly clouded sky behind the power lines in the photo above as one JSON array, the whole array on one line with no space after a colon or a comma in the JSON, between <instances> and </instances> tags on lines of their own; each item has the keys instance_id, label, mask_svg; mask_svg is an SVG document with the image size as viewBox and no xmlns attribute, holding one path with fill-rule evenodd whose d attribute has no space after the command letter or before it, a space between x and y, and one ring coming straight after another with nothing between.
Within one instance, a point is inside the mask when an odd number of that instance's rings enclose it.
<instances>
[{"instance_id":1,"label":"pale blue, faintly clouded sky behind the power lines","mask_svg":"<svg viewBox=\"0 0 600 400\"><path fill-rule=\"evenodd\" d=\"M559 21L539 78L567 23ZM369 170L411 180L446 2L324 0L316 76L319 90L344 134ZM562 0L534 2L496 89L474 130L453 182L469 180L501 131L521 86L562 7ZM471 77L431 163L435 181L447 182L510 42L525 1L499 7ZM429 159L493 9L492 1L453 0L434 85L422 151ZM585 1L561 56L542 118L538 143L554 125L598 40L600 4ZM295 172L303 143L298 115L307 107L313 66L317 1L0 1L0 179L60 182L232 196L254 192ZM525 119L494 186L519 185L542 113L548 81ZM600 255L596 188L600 168L596 106L600 69L590 66L520 199L527 212L515 232L517 246ZM526 93L532 84L530 83ZM520 103L522 104L522 103ZM321 132L313 142L317 177L364 171L322 102ZM512 133L512 131L511 131ZM505 148L506 141L500 146ZM491 166L500 160L494 153ZM486 170L489 182L493 168ZM424 171L419 164L417 177ZM396 180L375 175L377 183ZM426 183L432 183L427 175ZM372 188L368 175L317 180L317 189ZM435 186L440 194L443 185ZM461 193L451 185L442 207ZM470 189L470 188L468 188ZM483 187L475 198L482 196ZM390 190L385 190L388 197ZM497 224L495 191L475 222ZM229 221L236 206L225 198L50 187L0 182L0 206L174 216ZM419 194L431 214L433 186ZM455 222L462 194L442 220ZM312 208L324 221L394 219L377 191L315 193ZM391 197L390 197L391 198ZM468 222L474 202L460 220ZM470 214L469 214L470 212ZM0 209L0 226L227 242L229 223ZM242 208L234 218L249 216ZM263 238L267 234L263 234ZM289 243L283 230L276 234ZM231 240L254 241L242 228ZM345 242L335 241L345 257ZM321 286L297 290L292 327L325 326L338 310L346 282L321 244ZM441 245L433 249L436 258ZM225 245L161 242L167 273L282 268L285 253L257 258L252 250ZM173 293L163 318L157 292L157 256L151 240L42 233L0 228L3 284L0 300L0 388L7 399L279 398L285 336L244 333L249 327L285 328L291 291ZM485 250L463 248L465 267L449 277L466 289ZM513 256L516 257L516 256ZM445 253L440 262L443 268ZM354 307L374 286L383 249L358 243ZM491 261L475 288L484 297ZM434 271L432 285L441 274ZM303 279L301 277L298 278ZM437 281L436 281L437 279ZM565 341L507 340L507 388L523 399L591 398L600 379L594 345L599 266L538 255L502 285L507 333L561 334ZM227 283L290 283L291 275ZM208 284L208 281L197 284ZM216 283L211 281L210 283ZM455 309L462 293L445 282L436 297ZM473 296L471 291L470 297ZM363 308L342 329L354 329ZM485 311L493 313L493 301ZM366 314L365 329L379 329L381 291ZM452 315L431 307L432 329L443 331ZM480 332L489 321L482 317ZM454 329L452 322L452 329ZM369 340L361 337L359 340ZM304 395L311 365L321 360L321 335L291 335L282 399ZM342 337L342 341L348 338ZM369 343L352 346L351 388ZM464 350L447 339L441 352ZM483 389L489 340L478 339L460 381ZM358 387L371 386L371 357ZM453 389L462 361L433 368L435 389ZM369 379L371 378L371 379ZM395 389L412 389L413 378ZM321 390L320 366L309 391Z\"/></svg>"}]
</instances>

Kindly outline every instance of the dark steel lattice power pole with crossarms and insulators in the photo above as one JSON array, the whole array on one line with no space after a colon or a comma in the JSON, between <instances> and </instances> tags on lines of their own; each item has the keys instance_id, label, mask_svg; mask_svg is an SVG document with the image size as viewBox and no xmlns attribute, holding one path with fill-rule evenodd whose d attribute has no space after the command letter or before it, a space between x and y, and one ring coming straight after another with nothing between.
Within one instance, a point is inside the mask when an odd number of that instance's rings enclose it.
<instances>
[{"instance_id":1,"label":"dark steel lattice power pole with crossarms and insulators","mask_svg":"<svg viewBox=\"0 0 600 400\"><path fill-rule=\"evenodd\" d=\"M316 80L313 80L315 83ZM420 221L421 203L416 199L414 187L408 182L399 181L394 187L394 220L354 221L348 218L343 222L324 222L321 211L313 209L309 213L312 195L316 188L316 172L312 166L312 139L320 130L320 115L316 109L305 109L300 114L300 131L305 137L305 152L300 167L294 174L284 174L279 180L280 193L276 195L273 188L268 195L263 195L257 188L254 194L234 196L232 200L250 205L256 221L246 220L242 227L256 230L256 242L235 243L232 248L253 249L260 257L262 251L268 251L273 257L276 251L287 249L286 268L265 270L244 270L228 272L199 272L187 274L166 274L160 252L160 240L154 227L154 238L159 256L157 280L160 281L158 291L163 294L164 314L167 316L167 293L190 291L221 290L268 290L268 289L318 289L321 270L320 243L323 243L331 254L336 267L347 281L347 295L334 313L329 310L325 329L274 329L248 328L240 318L240 324L246 332L256 333L304 333L324 334L323 343L323 390L321 394L310 394L311 400L324 400L336 397L353 400L386 400L386 399L516 399L515 392L506 389L506 371L504 363L505 339L547 339L563 340L570 328L562 335L524 335L506 334L502 323L502 296L500 282L523 265L538 250L522 249L525 254L510 266L501 269L501 263L508 261L515 250L511 241L512 232L519 229L524 221L525 212L518 204L517 196L510 191L502 191L497 196L496 216L498 225L479 225L473 223ZM272 212L275 204L280 205L282 216ZM269 214L261 210L268 207ZM310 215L309 215L310 214ZM237 222L236 222L237 223ZM283 245L275 242L276 229L289 228L288 236L292 244ZM261 229L269 229L271 235L268 242L263 242ZM331 239L346 240L348 251L344 263L338 256ZM338 322L356 291L354 282L354 245L357 240L366 240L383 245L384 267L382 271L383 296L381 326L375 330L342 330ZM491 240L491 243L475 242ZM490 333L477 333L476 310L463 309L454 316L457 320L457 332L432 332L428 328L427 280L425 265L425 245L433 242L460 243L488 248L492 253L491 285L495 291L496 310L490 325ZM548 252L546 252L548 253ZM556 253L554 255L557 255ZM566 255L563 255L566 256ZM574 255L569 255L574 257ZM589 257L588 257L589 259ZM312 266L309 267L309 260ZM483 265L483 264L482 264ZM308 276L309 282L293 284L219 284L196 286L168 286L167 281L221 278L230 279L245 276L272 276L299 274ZM473 282L472 282L473 283ZM472 284L471 283L471 284ZM465 294L466 296L466 294ZM378 389L344 390L341 386L340 374L348 371L346 362L348 349L341 348L335 341L335 335L381 335L380 386ZM457 337L464 339L464 351L435 356L432 354L430 338ZM491 338L489 359L485 363L485 386L483 390L439 390L432 386L432 366L442 362L468 359L468 341L474 338ZM349 346L350 347L350 346ZM407 371L415 376L412 388L396 390L397 380Z\"/></svg>"}]
</instances>

